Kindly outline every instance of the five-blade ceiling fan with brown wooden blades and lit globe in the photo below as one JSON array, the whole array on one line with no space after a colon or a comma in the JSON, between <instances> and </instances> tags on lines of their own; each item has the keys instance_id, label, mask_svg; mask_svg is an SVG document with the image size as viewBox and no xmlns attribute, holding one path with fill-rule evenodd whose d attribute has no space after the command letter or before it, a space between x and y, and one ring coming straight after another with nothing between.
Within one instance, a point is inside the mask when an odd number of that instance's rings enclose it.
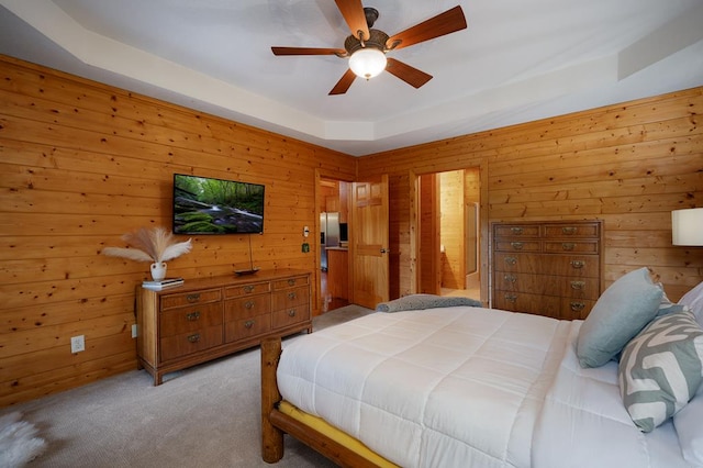
<instances>
[{"instance_id":1,"label":"five-blade ceiling fan with brown wooden blades and lit globe","mask_svg":"<svg viewBox=\"0 0 703 468\"><path fill-rule=\"evenodd\" d=\"M389 36L383 31L372 29L379 13L373 8L364 8L361 0L335 0L335 3L337 3L339 12L352 31L352 35L344 42L344 48L271 47L274 55L277 56L336 55L341 58L349 57L349 69L332 88L330 94L344 94L357 76L369 79L384 69L406 83L420 88L432 79L432 75L427 75L394 58L386 57L386 53L466 27L464 11L460 5L457 5L405 31Z\"/></svg>"}]
</instances>

